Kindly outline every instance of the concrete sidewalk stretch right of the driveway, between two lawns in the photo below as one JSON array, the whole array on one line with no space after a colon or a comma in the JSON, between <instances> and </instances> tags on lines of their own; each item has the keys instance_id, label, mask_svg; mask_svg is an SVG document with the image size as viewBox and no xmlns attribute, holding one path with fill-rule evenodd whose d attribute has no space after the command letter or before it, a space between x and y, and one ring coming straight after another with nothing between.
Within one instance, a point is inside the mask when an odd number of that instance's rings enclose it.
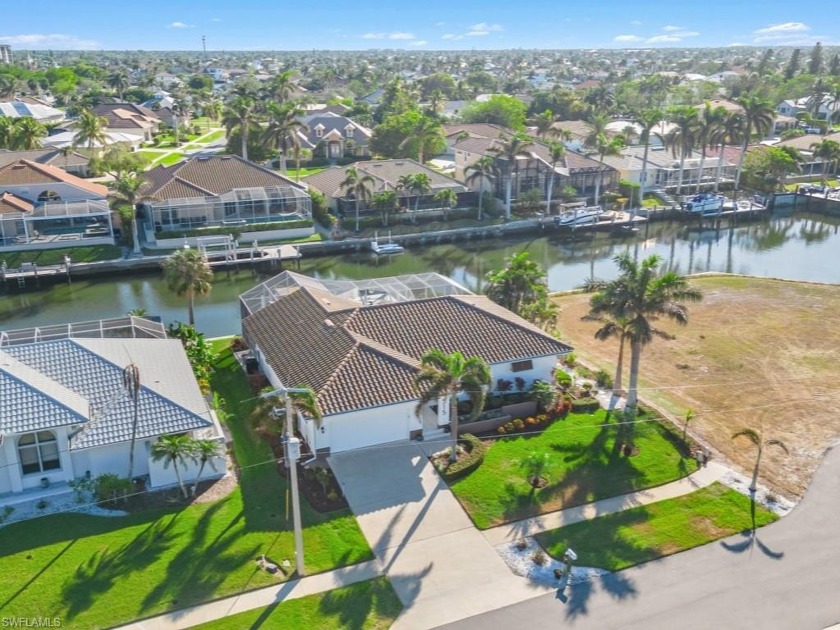
<instances>
[{"instance_id":1,"label":"concrete sidewalk stretch right of the driveway, between two lawns","mask_svg":"<svg viewBox=\"0 0 840 630\"><path fill-rule=\"evenodd\" d=\"M564 525L579 523L605 514L621 512L639 505L656 503L665 499L673 499L684 494L689 494L700 488L705 488L715 481L720 480L729 469L721 464L710 462L706 467L700 468L697 472L683 477L677 481L666 483L655 488L639 490L630 494L623 494L609 499L602 499L585 505L541 514L507 525L500 525L483 531L484 537L491 545L496 546L506 542L512 542L522 536L531 536L550 529L557 529Z\"/></svg>"}]
</instances>

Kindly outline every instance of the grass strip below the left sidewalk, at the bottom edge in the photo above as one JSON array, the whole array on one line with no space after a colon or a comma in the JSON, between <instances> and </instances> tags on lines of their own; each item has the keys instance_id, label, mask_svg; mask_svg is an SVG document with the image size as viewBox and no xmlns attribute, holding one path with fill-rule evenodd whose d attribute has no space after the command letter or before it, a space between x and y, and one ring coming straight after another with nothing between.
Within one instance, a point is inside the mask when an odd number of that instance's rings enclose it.
<instances>
[{"instance_id":1,"label":"grass strip below the left sidewalk, at the bottom edge","mask_svg":"<svg viewBox=\"0 0 840 630\"><path fill-rule=\"evenodd\" d=\"M262 628L263 630L384 630L402 610L387 578L379 577L308 595L268 608L258 608L196 626L200 630Z\"/></svg>"}]
</instances>

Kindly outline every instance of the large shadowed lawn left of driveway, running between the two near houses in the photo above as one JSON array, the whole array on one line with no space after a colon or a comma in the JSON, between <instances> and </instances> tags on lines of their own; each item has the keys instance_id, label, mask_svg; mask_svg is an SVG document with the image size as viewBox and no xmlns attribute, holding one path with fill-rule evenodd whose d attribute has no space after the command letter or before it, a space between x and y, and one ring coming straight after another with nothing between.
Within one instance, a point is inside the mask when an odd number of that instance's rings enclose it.
<instances>
[{"instance_id":1,"label":"large shadowed lawn left of driveway, running between the two near houses","mask_svg":"<svg viewBox=\"0 0 840 630\"><path fill-rule=\"evenodd\" d=\"M125 517L55 515L0 529L0 566L15 568L0 571L4 615L48 611L67 627L110 627L277 583L256 568L262 553L294 564L286 483L268 446L242 422L253 396L229 340L216 343L225 350L213 386L233 414L240 488L211 504ZM322 515L304 501L303 521L310 573L372 558L348 510Z\"/></svg>"}]
</instances>

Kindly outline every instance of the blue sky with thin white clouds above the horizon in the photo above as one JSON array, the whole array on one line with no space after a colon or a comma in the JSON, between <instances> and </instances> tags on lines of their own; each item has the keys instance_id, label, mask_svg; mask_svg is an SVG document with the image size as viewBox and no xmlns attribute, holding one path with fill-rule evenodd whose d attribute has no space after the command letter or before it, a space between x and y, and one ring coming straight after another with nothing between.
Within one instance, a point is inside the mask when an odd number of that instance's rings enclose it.
<instances>
[{"instance_id":1,"label":"blue sky with thin white clouds above the horizon","mask_svg":"<svg viewBox=\"0 0 840 630\"><path fill-rule=\"evenodd\" d=\"M38 0L3 2L17 49L408 50L840 45L810 0Z\"/></svg>"}]
</instances>

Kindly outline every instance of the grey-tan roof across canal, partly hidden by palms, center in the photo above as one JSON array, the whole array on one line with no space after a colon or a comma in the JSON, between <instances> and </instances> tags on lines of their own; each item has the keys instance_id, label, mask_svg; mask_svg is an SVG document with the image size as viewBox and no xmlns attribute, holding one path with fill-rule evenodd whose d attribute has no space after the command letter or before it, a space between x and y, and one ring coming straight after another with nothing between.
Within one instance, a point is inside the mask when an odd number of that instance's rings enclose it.
<instances>
[{"instance_id":1,"label":"grey-tan roof across canal, partly hidden by palms, center","mask_svg":"<svg viewBox=\"0 0 840 630\"><path fill-rule=\"evenodd\" d=\"M455 192L467 191L464 184L457 179L423 166L415 160L367 160L364 162L354 162L353 166L356 167L357 171L370 175L376 180L377 183L374 186L375 191L395 189L401 176L414 175L416 173L425 173L429 176L432 192L444 188L451 188ZM315 188L329 197L343 197L344 191L341 189L341 182L346 177L347 167L333 166L320 173L304 177L303 181L307 186Z\"/></svg>"}]
</instances>

